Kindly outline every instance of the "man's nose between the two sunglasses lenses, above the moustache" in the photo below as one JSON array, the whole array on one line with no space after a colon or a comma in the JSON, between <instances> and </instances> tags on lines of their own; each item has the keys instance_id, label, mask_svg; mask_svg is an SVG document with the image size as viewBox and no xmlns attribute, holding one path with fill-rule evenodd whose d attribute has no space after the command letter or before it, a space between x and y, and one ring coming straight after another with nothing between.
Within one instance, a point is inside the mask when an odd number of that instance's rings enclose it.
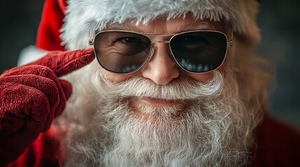
<instances>
[{"instance_id":1,"label":"man's nose between the two sunglasses lenses, above the moustache","mask_svg":"<svg viewBox=\"0 0 300 167\"><path fill-rule=\"evenodd\" d=\"M166 85L172 79L178 78L178 65L170 56L168 45L157 43L153 49L152 57L143 67L143 77L151 79L157 85Z\"/></svg>"}]
</instances>

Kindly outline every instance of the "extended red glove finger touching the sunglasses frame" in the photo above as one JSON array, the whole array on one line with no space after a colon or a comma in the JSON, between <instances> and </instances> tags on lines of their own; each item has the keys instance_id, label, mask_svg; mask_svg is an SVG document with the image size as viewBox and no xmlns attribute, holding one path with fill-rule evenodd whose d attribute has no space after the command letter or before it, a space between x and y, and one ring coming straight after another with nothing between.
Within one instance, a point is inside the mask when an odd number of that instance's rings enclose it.
<instances>
[{"instance_id":1,"label":"extended red glove finger touching the sunglasses frame","mask_svg":"<svg viewBox=\"0 0 300 167\"><path fill-rule=\"evenodd\" d=\"M44 65L50 67L57 77L62 77L91 63L94 57L94 49L50 51L46 56L29 65Z\"/></svg>"}]
</instances>

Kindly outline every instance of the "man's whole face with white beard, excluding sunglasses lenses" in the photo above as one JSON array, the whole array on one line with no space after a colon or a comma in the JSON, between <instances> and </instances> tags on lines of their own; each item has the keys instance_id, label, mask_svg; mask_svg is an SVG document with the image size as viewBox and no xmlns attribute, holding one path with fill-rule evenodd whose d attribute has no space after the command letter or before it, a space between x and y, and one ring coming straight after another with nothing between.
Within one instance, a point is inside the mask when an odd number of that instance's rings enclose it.
<instances>
[{"instance_id":1,"label":"man's whole face with white beard, excluding sunglasses lenses","mask_svg":"<svg viewBox=\"0 0 300 167\"><path fill-rule=\"evenodd\" d=\"M226 33L224 27L222 22L194 20L187 15L185 19L155 19L138 26L131 22L112 24L106 30L161 34L206 29ZM157 35L151 40L169 38ZM90 115L80 117L87 119L88 125L78 125L70 131L72 149L66 163L71 166L246 163L250 134L245 131L252 126L249 119L252 117L246 117L249 109L238 95L236 77L224 70L226 64L212 72L193 74L173 61L166 43L154 43L152 47L152 58L130 74L108 72L97 64L92 74L92 92L97 93L97 98L87 99L88 107L95 106ZM81 86L78 90L84 91Z\"/></svg>"}]
</instances>

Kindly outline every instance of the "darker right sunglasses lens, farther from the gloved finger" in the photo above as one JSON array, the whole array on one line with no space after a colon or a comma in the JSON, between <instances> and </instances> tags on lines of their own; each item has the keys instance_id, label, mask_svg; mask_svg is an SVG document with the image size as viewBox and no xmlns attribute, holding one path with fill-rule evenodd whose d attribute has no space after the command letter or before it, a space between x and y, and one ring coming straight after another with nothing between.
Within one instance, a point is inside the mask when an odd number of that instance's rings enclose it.
<instances>
[{"instance_id":1,"label":"darker right sunglasses lens, farther from the gloved finger","mask_svg":"<svg viewBox=\"0 0 300 167\"><path fill-rule=\"evenodd\" d=\"M176 35L170 47L176 61L190 72L208 72L222 65L227 38L215 31L195 31Z\"/></svg>"}]
</instances>

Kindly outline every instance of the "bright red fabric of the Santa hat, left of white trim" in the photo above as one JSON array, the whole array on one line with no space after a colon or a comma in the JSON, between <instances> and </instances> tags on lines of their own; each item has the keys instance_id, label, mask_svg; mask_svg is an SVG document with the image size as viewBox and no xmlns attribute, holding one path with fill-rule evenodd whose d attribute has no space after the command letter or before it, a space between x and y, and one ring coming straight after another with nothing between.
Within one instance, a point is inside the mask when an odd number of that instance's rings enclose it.
<instances>
[{"instance_id":1,"label":"bright red fabric of the Santa hat, left of white trim","mask_svg":"<svg viewBox=\"0 0 300 167\"><path fill-rule=\"evenodd\" d=\"M65 50L61 45L60 29L62 29L65 0L46 0L36 38L36 46L48 51Z\"/></svg>"}]
</instances>

